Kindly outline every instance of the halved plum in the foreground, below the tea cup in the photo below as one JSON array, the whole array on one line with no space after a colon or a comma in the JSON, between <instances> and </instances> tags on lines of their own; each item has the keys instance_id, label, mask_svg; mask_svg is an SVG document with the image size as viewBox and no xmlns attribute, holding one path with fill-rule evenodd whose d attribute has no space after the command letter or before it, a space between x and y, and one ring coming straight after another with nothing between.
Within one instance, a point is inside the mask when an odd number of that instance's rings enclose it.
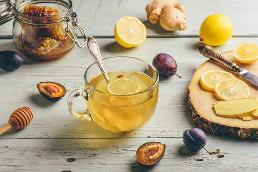
<instances>
[{"instance_id":1,"label":"halved plum in the foreground, below the tea cup","mask_svg":"<svg viewBox=\"0 0 258 172\"><path fill-rule=\"evenodd\" d=\"M136 151L136 161L145 166L155 165L164 156L165 148L160 142L144 143Z\"/></svg>"}]
</instances>

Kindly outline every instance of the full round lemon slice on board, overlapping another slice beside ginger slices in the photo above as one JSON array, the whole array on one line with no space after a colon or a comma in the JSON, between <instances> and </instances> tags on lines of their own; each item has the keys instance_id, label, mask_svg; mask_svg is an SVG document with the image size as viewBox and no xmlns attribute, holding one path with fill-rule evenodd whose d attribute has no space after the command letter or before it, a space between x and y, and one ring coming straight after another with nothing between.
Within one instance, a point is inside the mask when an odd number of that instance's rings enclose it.
<instances>
[{"instance_id":1,"label":"full round lemon slice on board, overlapping another slice beside ginger slices","mask_svg":"<svg viewBox=\"0 0 258 172\"><path fill-rule=\"evenodd\" d=\"M219 81L215 86L216 97L221 100L247 98L250 95L249 86L236 78Z\"/></svg>"}]
</instances>

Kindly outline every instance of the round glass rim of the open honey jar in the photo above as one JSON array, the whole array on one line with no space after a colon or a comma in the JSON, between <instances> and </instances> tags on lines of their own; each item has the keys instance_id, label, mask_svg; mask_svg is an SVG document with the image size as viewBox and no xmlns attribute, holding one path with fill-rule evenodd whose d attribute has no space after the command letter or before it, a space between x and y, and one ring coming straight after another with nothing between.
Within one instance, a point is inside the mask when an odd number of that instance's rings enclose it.
<instances>
[{"instance_id":1,"label":"round glass rim of the open honey jar","mask_svg":"<svg viewBox=\"0 0 258 172\"><path fill-rule=\"evenodd\" d=\"M29 16L26 14L23 14L21 12L21 9L24 8L24 6L26 4L36 4L36 3L55 3L55 4L60 4L66 7L65 11L62 11L59 14L53 15L53 16ZM20 3L20 4L19 4ZM72 13L72 1L71 0L28 0L28 1L24 1L23 0L16 0L13 6L13 14L16 20L22 22L22 23L26 23L29 25L36 25L36 26L40 26L40 25L47 25L47 24L54 24L54 23L60 23L62 21L65 21L65 18L68 17L70 14ZM57 16L61 16L60 20L57 20L55 22L48 22L48 23L32 23L31 19L51 19ZM28 20L28 18L30 20Z\"/></svg>"}]
</instances>

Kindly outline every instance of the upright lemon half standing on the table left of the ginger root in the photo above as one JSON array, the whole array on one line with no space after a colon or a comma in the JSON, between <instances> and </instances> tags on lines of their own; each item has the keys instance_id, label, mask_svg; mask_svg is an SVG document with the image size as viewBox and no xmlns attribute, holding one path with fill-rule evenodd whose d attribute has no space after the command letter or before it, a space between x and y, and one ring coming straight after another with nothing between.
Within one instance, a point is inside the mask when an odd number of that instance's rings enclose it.
<instances>
[{"instance_id":1,"label":"upright lemon half standing on the table left of the ginger root","mask_svg":"<svg viewBox=\"0 0 258 172\"><path fill-rule=\"evenodd\" d=\"M115 26L115 39L125 48L135 47L146 39L147 31L136 17L122 17Z\"/></svg>"}]
</instances>

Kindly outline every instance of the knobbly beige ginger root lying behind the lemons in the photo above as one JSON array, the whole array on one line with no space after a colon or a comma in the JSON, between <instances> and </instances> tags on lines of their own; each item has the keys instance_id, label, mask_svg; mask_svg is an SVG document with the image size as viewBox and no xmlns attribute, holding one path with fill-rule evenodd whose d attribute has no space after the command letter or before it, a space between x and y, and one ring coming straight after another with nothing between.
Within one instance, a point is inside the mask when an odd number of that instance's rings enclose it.
<instances>
[{"instance_id":1,"label":"knobbly beige ginger root lying behind the lemons","mask_svg":"<svg viewBox=\"0 0 258 172\"><path fill-rule=\"evenodd\" d=\"M153 0L146 8L147 19L167 31L186 29L185 8L177 0Z\"/></svg>"}]
</instances>

